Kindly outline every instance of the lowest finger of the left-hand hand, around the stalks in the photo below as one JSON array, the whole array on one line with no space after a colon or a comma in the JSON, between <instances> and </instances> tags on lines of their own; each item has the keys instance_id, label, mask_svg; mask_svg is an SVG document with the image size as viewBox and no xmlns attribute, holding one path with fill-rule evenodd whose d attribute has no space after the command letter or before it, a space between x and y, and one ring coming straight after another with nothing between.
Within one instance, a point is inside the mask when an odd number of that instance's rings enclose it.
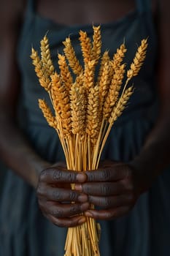
<instances>
[{"instance_id":1,"label":"lowest finger of the left-hand hand, around the stalks","mask_svg":"<svg viewBox=\"0 0 170 256\"><path fill-rule=\"evenodd\" d=\"M53 222L53 224L57 225L58 227L76 227L86 222L86 217L84 216L77 216L72 218L55 218L51 215L47 215L47 219L49 219L50 222Z\"/></svg>"}]
</instances>

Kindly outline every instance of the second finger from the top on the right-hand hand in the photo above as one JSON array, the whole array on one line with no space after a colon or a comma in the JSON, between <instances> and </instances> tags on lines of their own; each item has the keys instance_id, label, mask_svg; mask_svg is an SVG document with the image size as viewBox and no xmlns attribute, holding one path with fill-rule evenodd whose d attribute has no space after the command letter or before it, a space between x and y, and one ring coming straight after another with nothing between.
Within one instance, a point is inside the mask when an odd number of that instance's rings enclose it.
<instances>
[{"instance_id":1,"label":"second finger from the top on the right-hand hand","mask_svg":"<svg viewBox=\"0 0 170 256\"><path fill-rule=\"evenodd\" d=\"M127 191L126 187L121 181L117 182L88 182L85 184L76 184L75 189L81 186L81 191L88 195L120 195ZM80 189L79 189L80 190Z\"/></svg>"}]
</instances>

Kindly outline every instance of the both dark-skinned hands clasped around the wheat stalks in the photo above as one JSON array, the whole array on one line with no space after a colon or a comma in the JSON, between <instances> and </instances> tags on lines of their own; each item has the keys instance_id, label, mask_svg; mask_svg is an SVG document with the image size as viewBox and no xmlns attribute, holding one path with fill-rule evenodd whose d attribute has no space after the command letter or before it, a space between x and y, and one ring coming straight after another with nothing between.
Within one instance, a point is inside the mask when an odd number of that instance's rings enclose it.
<instances>
[{"instance_id":1,"label":"both dark-skinned hands clasped around the wheat stalks","mask_svg":"<svg viewBox=\"0 0 170 256\"><path fill-rule=\"evenodd\" d=\"M139 173L121 162L105 162L83 173L63 166L43 170L36 189L42 213L60 227L81 225L85 217L107 220L128 214L143 190Z\"/></svg>"}]
</instances>

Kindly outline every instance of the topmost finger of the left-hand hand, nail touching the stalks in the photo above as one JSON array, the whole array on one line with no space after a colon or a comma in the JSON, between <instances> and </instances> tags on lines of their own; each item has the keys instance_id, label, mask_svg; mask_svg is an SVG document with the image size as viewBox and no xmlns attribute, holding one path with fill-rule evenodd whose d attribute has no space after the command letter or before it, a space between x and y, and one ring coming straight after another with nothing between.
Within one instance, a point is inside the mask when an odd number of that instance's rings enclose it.
<instances>
[{"instance_id":1,"label":"topmost finger of the left-hand hand, nail touching the stalks","mask_svg":"<svg viewBox=\"0 0 170 256\"><path fill-rule=\"evenodd\" d=\"M87 176L85 173L80 173L72 170L58 169L57 167L50 167L42 171L39 180L45 183L77 183L84 182Z\"/></svg>"}]
</instances>

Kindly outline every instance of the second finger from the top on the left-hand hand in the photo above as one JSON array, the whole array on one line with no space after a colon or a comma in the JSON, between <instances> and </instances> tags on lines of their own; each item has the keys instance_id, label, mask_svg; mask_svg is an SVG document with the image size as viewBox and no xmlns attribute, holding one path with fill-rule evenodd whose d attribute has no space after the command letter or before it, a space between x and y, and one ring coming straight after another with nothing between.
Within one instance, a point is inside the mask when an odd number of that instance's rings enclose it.
<instances>
[{"instance_id":1,"label":"second finger from the top on the left-hand hand","mask_svg":"<svg viewBox=\"0 0 170 256\"><path fill-rule=\"evenodd\" d=\"M39 186L37 189L38 197L45 197L46 200L55 202L86 202L88 195L77 192L74 189L62 189L58 187L50 187L47 185Z\"/></svg>"}]
</instances>

